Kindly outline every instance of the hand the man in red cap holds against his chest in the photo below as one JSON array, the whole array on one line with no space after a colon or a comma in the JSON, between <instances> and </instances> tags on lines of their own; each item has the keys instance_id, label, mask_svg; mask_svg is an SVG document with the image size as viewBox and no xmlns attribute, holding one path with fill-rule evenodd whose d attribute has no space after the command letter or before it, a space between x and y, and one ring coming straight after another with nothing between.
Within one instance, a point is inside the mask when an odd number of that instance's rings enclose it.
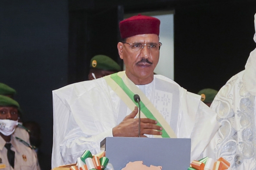
<instances>
[{"instance_id":1,"label":"hand the man in red cap holds against his chest","mask_svg":"<svg viewBox=\"0 0 256 170\"><path fill-rule=\"evenodd\" d=\"M134 110L128 116L123 119L123 121L113 128L113 136L122 136L122 137L138 137L139 130L139 119L134 117L138 113L138 108L135 106ZM144 134L148 135L162 135L162 127L156 125L157 121L141 118L140 119L140 137L146 137Z\"/></svg>"}]
</instances>

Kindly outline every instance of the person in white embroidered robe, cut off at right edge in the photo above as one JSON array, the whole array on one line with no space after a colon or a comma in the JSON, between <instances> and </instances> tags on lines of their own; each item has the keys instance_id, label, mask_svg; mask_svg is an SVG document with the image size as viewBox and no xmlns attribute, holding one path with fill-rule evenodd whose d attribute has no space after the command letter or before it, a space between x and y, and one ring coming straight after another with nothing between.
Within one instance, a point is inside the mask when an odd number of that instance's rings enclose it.
<instances>
[{"instance_id":1,"label":"person in white embroidered robe, cut off at right edge","mask_svg":"<svg viewBox=\"0 0 256 170\"><path fill-rule=\"evenodd\" d=\"M256 14L254 16L256 31ZM254 34L256 42L256 33ZM212 102L221 127L205 155L223 157L233 170L256 170L256 49L245 70L231 77ZM215 152L212 152L214 150Z\"/></svg>"}]
</instances>

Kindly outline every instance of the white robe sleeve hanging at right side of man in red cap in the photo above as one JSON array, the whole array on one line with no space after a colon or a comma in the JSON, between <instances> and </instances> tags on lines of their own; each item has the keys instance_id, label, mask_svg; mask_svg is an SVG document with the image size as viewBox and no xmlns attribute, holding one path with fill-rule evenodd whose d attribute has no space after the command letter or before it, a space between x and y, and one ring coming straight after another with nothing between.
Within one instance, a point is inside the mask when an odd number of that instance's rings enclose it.
<instances>
[{"instance_id":1,"label":"white robe sleeve hanging at right side of man in red cap","mask_svg":"<svg viewBox=\"0 0 256 170\"><path fill-rule=\"evenodd\" d=\"M201 101L201 96L180 88L178 138L191 139L191 161L198 160L220 127L217 114Z\"/></svg>"}]
</instances>

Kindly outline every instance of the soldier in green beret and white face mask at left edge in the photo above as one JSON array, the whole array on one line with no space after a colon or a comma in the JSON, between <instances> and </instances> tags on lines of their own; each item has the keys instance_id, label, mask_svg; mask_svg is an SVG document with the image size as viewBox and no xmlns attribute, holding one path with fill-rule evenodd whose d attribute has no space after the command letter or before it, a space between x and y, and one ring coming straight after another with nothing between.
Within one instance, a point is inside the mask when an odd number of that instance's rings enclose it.
<instances>
[{"instance_id":1,"label":"soldier in green beret and white face mask at left edge","mask_svg":"<svg viewBox=\"0 0 256 170\"><path fill-rule=\"evenodd\" d=\"M5 170L38 170L31 146L14 131L18 125L19 104L0 95L0 168Z\"/></svg>"}]
</instances>

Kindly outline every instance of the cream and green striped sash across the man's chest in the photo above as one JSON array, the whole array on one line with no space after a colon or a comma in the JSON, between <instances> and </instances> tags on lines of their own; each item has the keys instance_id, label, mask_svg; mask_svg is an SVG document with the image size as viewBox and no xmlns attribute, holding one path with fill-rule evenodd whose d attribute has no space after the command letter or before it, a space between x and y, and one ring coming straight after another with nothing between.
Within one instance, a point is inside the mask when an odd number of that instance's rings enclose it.
<instances>
[{"instance_id":1,"label":"cream and green striped sash across the man's chest","mask_svg":"<svg viewBox=\"0 0 256 170\"><path fill-rule=\"evenodd\" d=\"M134 94L138 94L140 96L141 118L156 120L157 125L163 127L162 135L154 135L154 137L176 138L176 134L172 130L172 127L170 127L170 125L166 122L161 113L157 111L157 109L145 96L145 94L143 94L140 88L138 88L130 79L128 79L125 71L111 74L104 77L104 79L131 111L134 110L134 105L138 106L137 102L134 101Z\"/></svg>"}]
</instances>

